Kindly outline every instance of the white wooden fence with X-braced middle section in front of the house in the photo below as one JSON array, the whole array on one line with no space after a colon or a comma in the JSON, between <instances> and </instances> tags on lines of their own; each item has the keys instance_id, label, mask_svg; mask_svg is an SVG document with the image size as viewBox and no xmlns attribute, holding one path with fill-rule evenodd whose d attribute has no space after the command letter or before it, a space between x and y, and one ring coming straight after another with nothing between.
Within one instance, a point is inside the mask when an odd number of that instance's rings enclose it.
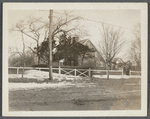
<instances>
[{"instance_id":1,"label":"white wooden fence with X-braced middle section in front of the house","mask_svg":"<svg viewBox=\"0 0 150 119\"><path fill-rule=\"evenodd\" d=\"M16 69L16 74L19 74L19 70L23 67L9 67L8 69ZM25 67L25 70L49 70L49 68L34 68L34 67ZM52 68L52 70L58 70L58 74L70 75L70 76L85 76L91 77L93 73L107 73L107 70L97 70L97 69L69 69L69 68ZM63 73L62 73L63 72ZM109 70L109 72L120 73L123 75L123 70Z\"/></svg>"}]
</instances>

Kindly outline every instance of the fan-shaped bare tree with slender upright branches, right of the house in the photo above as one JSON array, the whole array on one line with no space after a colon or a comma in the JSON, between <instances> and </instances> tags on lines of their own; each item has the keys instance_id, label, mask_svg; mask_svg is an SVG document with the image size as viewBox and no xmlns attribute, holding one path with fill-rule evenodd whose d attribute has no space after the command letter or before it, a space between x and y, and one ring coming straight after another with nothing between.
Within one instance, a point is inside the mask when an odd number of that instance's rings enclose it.
<instances>
[{"instance_id":1,"label":"fan-shaped bare tree with slender upright branches, right of the house","mask_svg":"<svg viewBox=\"0 0 150 119\"><path fill-rule=\"evenodd\" d=\"M99 53L102 56L101 60L106 64L107 79L109 79L109 70L113 59L118 55L125 44L122 35L123 32L120 29L102 24Z\"/></svg>"}]
</instances>

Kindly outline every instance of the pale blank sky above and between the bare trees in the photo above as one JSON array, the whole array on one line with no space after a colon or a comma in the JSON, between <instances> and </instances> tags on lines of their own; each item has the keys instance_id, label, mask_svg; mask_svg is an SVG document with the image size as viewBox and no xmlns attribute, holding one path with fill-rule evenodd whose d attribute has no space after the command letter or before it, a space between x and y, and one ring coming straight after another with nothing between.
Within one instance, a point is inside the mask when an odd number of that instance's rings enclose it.
<instances>
[{"instance_id":1,"label":"pale blank sky above and between the bare trees","mask_svg":"<svg viewBox=\"0 0 150 119\"><path fill-rule=\"evenodd\" d=\"M120 28L124 32L124 39L131 43L134 39L133 30L137 23L140 23L140 10L68 10L67 12L72 12L75 16L81 16L84 18L80 24L84 25L85 29L88 31L89 38L95 45L100 43L100 30L101 22L109 25L113 25L115 28ZM53 15L57 16L62 11L54 10ZM37 11L37 10L10 10L8 12L8 29L15 25L19 20L25 20L30 16L42 17L45 20L49 20L48 11ZM94 22L96 21L96 22ZM44 35L43 35L44 36ZM31 42L34 44L30 38L25 37L26 45L28 46ZM40 41L43 40L41 37ZM82 39L81 39L82 40ZM128 45L129 46L129 45ZM22 42L20 40L20 34L17 32L9 33L9 47L17 47L19 50L22 49ZM128 48L128 47L126 47ZM126 49L123 50L125 55Z\"/></svg>"}]
</instances>

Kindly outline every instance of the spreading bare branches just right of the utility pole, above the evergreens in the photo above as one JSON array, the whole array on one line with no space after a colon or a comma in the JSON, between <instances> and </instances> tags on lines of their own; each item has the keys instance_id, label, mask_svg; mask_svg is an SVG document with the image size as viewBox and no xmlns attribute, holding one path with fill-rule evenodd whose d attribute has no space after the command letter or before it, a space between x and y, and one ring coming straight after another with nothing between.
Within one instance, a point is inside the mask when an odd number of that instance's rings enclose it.
<instances>
[{"instance_id":1,"label":"spreading bare branches just right of the utility pole, above the evergreens","mask_svg":"<svg viewBox=\"0 0 150 119\"><path fill-rule=\"evenodd\" d=\"M58 14L58 13L57 13ZM83 26L79 24L82 20L79 16L72 15L72 12L63 11L59 15L55 15L54 12L54 23L53 23L53 33L52 38L58 39L60 34L68 34L69 36L86 36L88 35L87 31L83 29Z\"/></svg>"}]
</instances>

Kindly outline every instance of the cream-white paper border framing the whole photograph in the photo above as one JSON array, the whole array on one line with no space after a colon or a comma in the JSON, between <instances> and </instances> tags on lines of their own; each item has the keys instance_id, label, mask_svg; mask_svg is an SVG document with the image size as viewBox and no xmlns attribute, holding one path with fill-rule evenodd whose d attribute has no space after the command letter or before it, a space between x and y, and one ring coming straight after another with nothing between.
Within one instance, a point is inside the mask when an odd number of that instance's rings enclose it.
<instances>
[{"instance_id":1,"label":"cream-white paper border framing the whole photograph","mask_svg":"<svg viewBox=\"0 0 150 119\"><path fill-rule=\"evenodd\" d=\"M8 96L8 11L9 10L141 10L141 110L105 111L9 111ZM3 3L3 116L101 117L147 115L148 4L147 3Z\"/></svg>"}]
</instances>

